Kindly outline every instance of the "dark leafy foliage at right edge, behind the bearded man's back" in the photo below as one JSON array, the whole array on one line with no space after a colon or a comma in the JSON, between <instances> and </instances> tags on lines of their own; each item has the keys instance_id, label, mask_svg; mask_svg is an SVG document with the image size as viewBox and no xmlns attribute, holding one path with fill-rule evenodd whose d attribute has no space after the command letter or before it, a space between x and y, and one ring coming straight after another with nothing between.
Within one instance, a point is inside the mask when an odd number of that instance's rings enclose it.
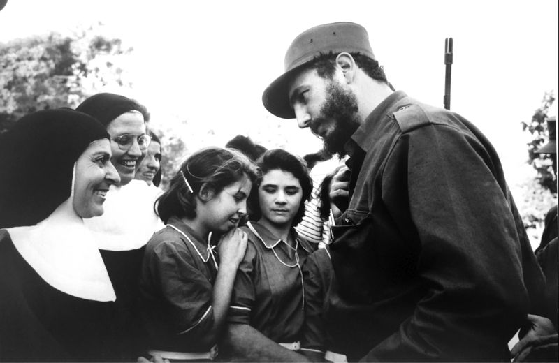
<instances>
[{"instance_id":1,"label":"dark leafy foliage at right edge, behind the bearded man's back","mask_svg":"<svg viewBox=\"0 0 559 363\"><path fill-rule=\"evenodd\" d=\"M555 101L553 91L546 92L542 100L542 105L535 111L530 123L522 122L522 130L528 131L532 135L532 140L528 142L528 164L532 165L537 171L537 181L542 187L557 194L557 176L553 170L553 158L556 155L537 154L535 151L542 147L548 140L546 117L549 108Z\"/></svg>"}]
</instances>

